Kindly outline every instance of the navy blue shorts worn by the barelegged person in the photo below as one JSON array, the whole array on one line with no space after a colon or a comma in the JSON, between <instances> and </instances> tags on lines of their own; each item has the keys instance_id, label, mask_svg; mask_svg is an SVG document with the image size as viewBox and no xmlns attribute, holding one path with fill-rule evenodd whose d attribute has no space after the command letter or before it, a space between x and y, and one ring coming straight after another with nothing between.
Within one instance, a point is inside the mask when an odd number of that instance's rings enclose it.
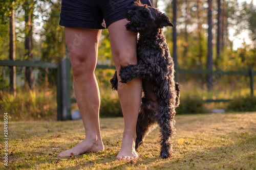
<instances>
[{"instance_id":1,"label":"navy blue shorts worn by the barelegged person","mask_svg":"<svg viewBox=\"0 0 256 170\"><path fill-rule=\"evenodd\" d=\"M62 0L59 25L74 28L105 29L124 19L135 0ZM150 0L141 0L151 5Z\"/></svg>"}]
</instances>

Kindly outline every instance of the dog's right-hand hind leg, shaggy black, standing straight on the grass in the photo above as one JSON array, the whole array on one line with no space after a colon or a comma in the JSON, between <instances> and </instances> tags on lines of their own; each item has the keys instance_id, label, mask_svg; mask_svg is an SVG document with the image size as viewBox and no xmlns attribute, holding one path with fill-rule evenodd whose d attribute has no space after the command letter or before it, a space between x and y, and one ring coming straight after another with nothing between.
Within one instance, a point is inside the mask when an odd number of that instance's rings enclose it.
<instances>
[{"instance_id":1,"label":"dog's right-hand hind leg, shaggy black, standing straight on the grass","mask_svg":"<svg viewBox=\"0 0 256 170\"><path fill-rule=\"evenodd\" d=\"M168 104L162 104L158 107L158 124L161 128L161 151L160 156L163 159L172 157L173 144L172 139L176 134L175 130L175 108L169 108Z\"/></svg>"}]
</instances>

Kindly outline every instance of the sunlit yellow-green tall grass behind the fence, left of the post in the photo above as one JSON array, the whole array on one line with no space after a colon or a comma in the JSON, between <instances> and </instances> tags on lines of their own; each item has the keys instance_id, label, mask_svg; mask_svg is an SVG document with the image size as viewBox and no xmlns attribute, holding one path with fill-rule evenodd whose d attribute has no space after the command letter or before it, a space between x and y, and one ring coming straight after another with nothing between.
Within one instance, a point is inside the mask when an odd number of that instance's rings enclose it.
<instances>
[{"instance_id":1,"label":"sunlit yellow-green tall grass behind the fence, left of the post","mask_svg":"<svg viewBox=\"0 0 256 170\"><path fill-rule=\"evenodd\" d=\"M57 117L56 89L20 88L17 95L0 91L0 111L8 112L12 121ZM3 119L3 114L0 119Z\"/></svg>"}]
</instances>

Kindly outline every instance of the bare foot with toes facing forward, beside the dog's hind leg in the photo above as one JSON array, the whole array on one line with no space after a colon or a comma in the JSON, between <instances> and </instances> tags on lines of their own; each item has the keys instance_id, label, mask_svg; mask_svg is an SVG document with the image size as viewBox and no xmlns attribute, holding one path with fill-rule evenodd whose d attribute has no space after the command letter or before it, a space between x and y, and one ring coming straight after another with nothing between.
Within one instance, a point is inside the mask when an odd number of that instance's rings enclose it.
<instances>
[{"instance_id":1,"label":"bare foot with toes facing forward, beside the dog's hind leg","mask_svg":"<svg viewBox=\"0 0 256 170\"><path fill-rule=\"evenodd\" d=\"M130 160L138 158L138 154L135 151L135 139L133 135L123 135L122 147L120 152L117 154L116 159L119 160Z\"/></svg>"}]
</instances>

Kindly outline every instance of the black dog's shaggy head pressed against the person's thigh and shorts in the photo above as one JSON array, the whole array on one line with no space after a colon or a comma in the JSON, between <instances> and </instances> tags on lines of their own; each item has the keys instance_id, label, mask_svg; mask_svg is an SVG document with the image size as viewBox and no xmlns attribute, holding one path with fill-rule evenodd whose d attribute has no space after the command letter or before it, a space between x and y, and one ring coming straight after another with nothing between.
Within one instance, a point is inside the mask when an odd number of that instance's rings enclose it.
<instances>
[{"instance_id":1,"label":"black dog's shaggy head pressed against the person's thigh and shorts","mask_svg":"<svg viewBox=\"0 0 256 170\"><path fill-rule=\"evenodd\" d=\"M131 10L126 12L126 29L132 32L146 32L153 29L174 26L168 16L158 9L142 4L140 1L134 2Z\"/></svg>"}]
</instances>

